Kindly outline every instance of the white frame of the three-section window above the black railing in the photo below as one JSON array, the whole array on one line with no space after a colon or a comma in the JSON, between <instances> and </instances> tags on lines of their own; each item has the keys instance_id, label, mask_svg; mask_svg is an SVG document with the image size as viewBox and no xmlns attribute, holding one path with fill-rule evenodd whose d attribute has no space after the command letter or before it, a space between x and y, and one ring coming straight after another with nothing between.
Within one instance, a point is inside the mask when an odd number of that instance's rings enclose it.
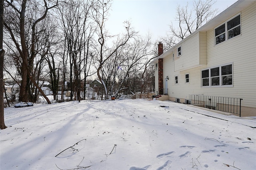
<instances>
[{"instance_id":1,"label":"white frame of the three-section window above the black railing","mask_svg":"<svg viewBox=\"0 0 256 170\"><path fill-rule=\"evenodd\" d=\"M225 74L225 75L222 75L222 72L221 72L221 68L222 66L227 66L227 65L231 65L232 66L232 74ZM219 76L211 76L211 69L212 68L219 68ZM209 85L208 86L203 86L203 79L205 78L202 78L202 71L204 70L208 70L209 72L209 75L208 75L208 79L209 79ZM224 76L232 76L232 84L228 84L228 85L222 85L222 78ZM219 77L219 85L212 85L212 78L215 78L215 77ZM202 88L213 88L213 87L233 87L234 85L234 70L233 70L233 63L226 63L226 64L221 64L221 65L218 65L218 66L212 66L212 67L209 67L209 68L205 68L205 69L202 69L201 70L201 87Z\"/></svg>"}]
</instances>

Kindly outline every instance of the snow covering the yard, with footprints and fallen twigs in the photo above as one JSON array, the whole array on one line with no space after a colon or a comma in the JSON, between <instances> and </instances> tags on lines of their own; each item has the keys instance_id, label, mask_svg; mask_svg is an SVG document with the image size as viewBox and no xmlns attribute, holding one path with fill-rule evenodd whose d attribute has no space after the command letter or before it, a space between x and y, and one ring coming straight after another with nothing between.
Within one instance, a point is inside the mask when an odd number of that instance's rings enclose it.
<instances>
[{"instance_id":1,"label":"snow covering the yard, with footprints and fallen twigs","mask_svg":"<svg viewBox=\"0 0 256 170\"><path fill-rule=\"evenodd\" d=\"M159 100L34 104L4 113L1 170L256 169L255 117Z\"/></svg>"}]
</instances>

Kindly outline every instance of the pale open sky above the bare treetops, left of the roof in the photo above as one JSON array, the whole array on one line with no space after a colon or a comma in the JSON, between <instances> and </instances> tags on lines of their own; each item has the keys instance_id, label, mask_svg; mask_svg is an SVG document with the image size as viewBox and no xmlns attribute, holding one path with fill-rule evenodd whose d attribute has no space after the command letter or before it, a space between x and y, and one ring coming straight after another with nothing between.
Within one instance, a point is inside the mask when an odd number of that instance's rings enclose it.
<instances>
[{"instance_id":1,"label":"pale open sky above the bare treetops, left of the roof","mask_svg":"<svg viewBox=\"0 0 256 170\"><path fill-rule=\"evenodd\" d=\"M176 18L176 6L193 6L192 0L113 0L106 28L110 34L125 31L123 22L131 22L140 35L150 33L153 40L166 35L171 21ZM222 12L236 0L217 0L213 8Z\"/></svg>"}]
</instances>

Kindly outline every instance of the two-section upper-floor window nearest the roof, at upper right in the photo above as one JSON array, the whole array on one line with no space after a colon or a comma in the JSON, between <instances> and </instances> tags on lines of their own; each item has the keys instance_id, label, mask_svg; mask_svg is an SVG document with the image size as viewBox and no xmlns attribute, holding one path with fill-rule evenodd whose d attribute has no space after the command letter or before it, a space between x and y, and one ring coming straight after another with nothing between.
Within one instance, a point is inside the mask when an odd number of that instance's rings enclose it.
<instances>
[{"instance_id":1,"label":"two-section upper-floor window nearest the roof, at upper right","mask_svg":"<svg viewBox=\"0 0 256 170\"><path fill-rule=\"evenodd\" d=\"M240 14L214 29L215 45L241 34Z\"/></svg>"}]
</instances>

